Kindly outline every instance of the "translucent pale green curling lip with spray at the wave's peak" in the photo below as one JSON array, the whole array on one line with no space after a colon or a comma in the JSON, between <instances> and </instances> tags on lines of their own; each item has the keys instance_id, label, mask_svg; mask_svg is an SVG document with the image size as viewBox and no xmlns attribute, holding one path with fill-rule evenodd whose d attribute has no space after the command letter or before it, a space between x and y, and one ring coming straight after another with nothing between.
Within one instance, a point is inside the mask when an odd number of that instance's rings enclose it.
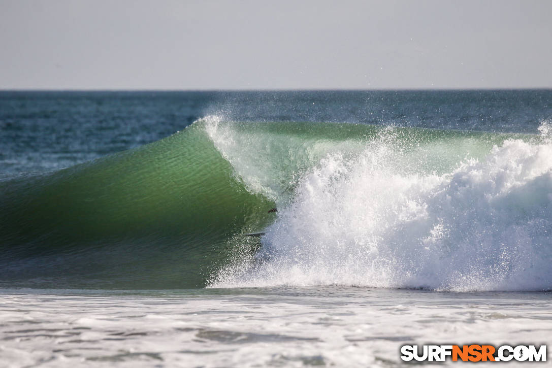
<instances>
[{"instance_id":1,"label":"translucent pale green curling lip with spray at the wave's peak","mask_svg":"<svg viewBox=\"0 0 552 368\"><path fill-rule=\"evenodd\" d=\"M238 181L279 204L293 196L302 175L328 152L358 152L378 130L371 125L228 121L215 115L198 124Z\"/></svg>"}]
</instances>

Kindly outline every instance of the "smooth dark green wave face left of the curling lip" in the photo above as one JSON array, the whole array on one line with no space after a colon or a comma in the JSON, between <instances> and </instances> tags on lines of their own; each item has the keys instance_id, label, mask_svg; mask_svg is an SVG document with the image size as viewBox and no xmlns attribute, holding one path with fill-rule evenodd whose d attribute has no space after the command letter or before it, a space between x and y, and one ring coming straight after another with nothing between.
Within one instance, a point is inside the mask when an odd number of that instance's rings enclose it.
<instances>
[{"instance_id":1,"label":"smooth dark green wave face left of the curling lip","mask_svg":"<svg viewBox=\"0 0 552 368\"><path fill-rule=\"evenodd\" d=\"M234 178L201 123L4 182L2 199L2 280L47 287L203 286L213 264L236 251L230 239L266 226L273 205Z\"/></svg>"}]
</instances>

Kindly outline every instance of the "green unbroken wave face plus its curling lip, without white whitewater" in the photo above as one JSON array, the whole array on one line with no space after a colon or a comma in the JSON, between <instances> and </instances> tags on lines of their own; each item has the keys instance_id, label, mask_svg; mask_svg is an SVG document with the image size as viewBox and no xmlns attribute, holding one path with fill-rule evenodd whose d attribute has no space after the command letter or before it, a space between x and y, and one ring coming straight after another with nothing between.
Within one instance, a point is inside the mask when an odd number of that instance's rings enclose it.
<instances>
[{"instance_id":1,"label":"green unbroken wave face plus its curling lip, without white whitewater","mask_svg":"<svg viewBox=\"0 0 552 368\"><path fill-rule=\"evenodd\" d=\"M383 145L413 172L447 172L512 136L209 117L136 150L0 183L6 285L203 287L259 240L328 154Z\"/></svg>"}]
</instances>

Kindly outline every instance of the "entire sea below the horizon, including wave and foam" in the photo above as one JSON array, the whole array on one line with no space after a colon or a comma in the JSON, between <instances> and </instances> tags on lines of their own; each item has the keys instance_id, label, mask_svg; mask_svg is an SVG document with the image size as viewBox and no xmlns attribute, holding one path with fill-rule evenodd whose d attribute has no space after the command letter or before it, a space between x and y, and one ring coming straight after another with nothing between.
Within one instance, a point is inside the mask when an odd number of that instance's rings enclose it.
<instances>
[{"instance_id":1,"label":"entire sea below the horizon, including wave and foam","mask_svg":"<svg viewBox=\"0 0 552 368\"><path fill-rule=\"evenodd\" d=\"M2 367L550 350L551 236L552 90L0 92Z\"/></svg>"}]
</instances>

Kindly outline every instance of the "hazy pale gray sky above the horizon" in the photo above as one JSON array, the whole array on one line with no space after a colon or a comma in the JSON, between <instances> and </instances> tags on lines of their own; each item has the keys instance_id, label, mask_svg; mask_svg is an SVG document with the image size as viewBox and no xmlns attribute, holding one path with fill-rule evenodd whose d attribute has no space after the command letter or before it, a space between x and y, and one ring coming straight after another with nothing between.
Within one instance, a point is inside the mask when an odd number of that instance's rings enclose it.
<instances>
[{"instance_id":1,"label":"hazy pale gray sky above the horizon","mask_svg":"<svg viewBox=\"0 0 552 368\"><path fill-rule=\"evenodd\" d=\"M551 88L551 15L549 0L0 0L0 88Z\"/></svg>"}]
</instances>

